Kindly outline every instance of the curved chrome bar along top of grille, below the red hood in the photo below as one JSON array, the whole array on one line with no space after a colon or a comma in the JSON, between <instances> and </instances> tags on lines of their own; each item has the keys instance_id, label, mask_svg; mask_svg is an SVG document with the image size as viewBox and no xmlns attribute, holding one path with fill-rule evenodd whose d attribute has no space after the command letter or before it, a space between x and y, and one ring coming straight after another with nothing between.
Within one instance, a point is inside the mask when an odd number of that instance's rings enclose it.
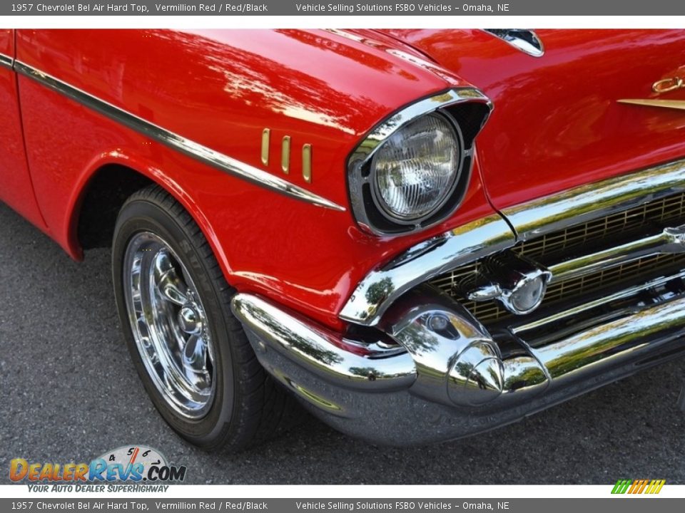
<instances>
[{"instance_id":1,"label":"curved chrome bar along top of grille, below the red hood","mask_svg":"<svg viewBox=\"0 0 685 513\"><path fill-rule=\"evenodd\" d=\"M685 159L509 207L502 211L506 219L498 215L478 219L417 244L370 271L340 311L340 318L374 326L399 296L435 276L512 247L517 241L678 192L685 192Z\"/></svg>"}]
</instances>

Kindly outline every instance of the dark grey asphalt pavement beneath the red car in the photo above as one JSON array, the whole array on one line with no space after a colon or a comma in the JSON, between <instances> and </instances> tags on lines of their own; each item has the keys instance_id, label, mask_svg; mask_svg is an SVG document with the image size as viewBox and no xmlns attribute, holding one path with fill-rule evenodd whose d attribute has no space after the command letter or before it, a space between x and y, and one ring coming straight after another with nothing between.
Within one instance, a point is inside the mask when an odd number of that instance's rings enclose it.
<instances>
[{"instance_id":1,"label":"dark grey asphalt pavement beneath the red car","mask_svg":"<svg viewBox=\"0 0 685 513\"><path fill-rule=\"evenodd\" d=\"M685 483L675 361L514 425L430 447L387 448L311 420L238 455L208 454L156 413L120 334L106 249L69 259L0 204L0 483L9 461L89 461L156 447L193 484ZM381 427L392 429L392 426Z\"/></svg>"}]
</instances>

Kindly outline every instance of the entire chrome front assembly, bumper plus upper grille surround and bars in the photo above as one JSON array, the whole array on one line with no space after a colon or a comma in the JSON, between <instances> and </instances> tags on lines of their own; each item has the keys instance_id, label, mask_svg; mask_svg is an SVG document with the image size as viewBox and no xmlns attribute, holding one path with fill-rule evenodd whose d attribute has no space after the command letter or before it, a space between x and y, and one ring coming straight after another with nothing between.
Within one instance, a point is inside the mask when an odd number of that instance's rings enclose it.
<instances>
[{"instance_id":1,"label":"entire chrome front assembly, bumper plus upper grille surround and bars","mask_svg":"<svg viewBox=\"0 0 685 513\"><path fill-rule=\"evenodd\" d=\"M338 430L385 444L471 435L680 356L685 259L488 320L487 328L462 304L472 297L461 281L455 297L428 282L477 261L485 269L477 276L497 276L494 264L517 271L509 267L517 260L500 257L521 244L617 215L641 219L674 197L679 210L659 226L649 217L639 232L605 230L606 240L561 259L527 262L558 286L645 257L671 258L685 252L685 160L536 199L505 210L506 219L486 217L417 244L360 282L340 312L347 336L250 294L235 296L233 312L263 366Z\"/></svg>"}]
</instances>

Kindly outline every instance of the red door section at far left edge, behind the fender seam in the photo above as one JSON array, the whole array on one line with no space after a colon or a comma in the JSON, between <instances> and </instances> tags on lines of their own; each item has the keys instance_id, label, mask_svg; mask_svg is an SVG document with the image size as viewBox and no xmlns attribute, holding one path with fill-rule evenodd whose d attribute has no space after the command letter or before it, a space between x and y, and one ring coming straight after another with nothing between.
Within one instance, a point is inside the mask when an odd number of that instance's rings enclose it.
<instances>
[{"instance_id":1,"label":"red door section at far left edge, behind the fender seam","mask_svg":"<svg viewBox=\"0 0 685 513\"><path fill-rule=\"evenodd\" d=\"M14 57L14 30L0 29L0 54ZM18 100L16 76L11 69L0 66L0 201L45 231L26 165Z\"/></svg>"}]
</instances>

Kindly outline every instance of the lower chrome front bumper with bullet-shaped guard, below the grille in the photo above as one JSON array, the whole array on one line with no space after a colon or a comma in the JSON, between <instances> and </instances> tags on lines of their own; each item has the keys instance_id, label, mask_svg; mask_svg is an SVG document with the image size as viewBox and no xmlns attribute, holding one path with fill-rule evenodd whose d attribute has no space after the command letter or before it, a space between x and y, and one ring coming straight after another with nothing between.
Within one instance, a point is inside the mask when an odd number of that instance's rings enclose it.
<instances>
[{"instance_id":1,"label":"lower chrome front bumper with bullet-shaped guard, below the grille","mask_svg":"<svg viewBox=\"0 0 685 513\"><path fill-rule=\"evenodd\" d=\"M336 429L371 442L450 440L518 420L676 356L685 298L532 348L506 348L430 287L387 312L401 346L360 344L250 294L233 299L262 365ZM364 351L360 351L360 350Z\"/></svg>"}]
</instances>

